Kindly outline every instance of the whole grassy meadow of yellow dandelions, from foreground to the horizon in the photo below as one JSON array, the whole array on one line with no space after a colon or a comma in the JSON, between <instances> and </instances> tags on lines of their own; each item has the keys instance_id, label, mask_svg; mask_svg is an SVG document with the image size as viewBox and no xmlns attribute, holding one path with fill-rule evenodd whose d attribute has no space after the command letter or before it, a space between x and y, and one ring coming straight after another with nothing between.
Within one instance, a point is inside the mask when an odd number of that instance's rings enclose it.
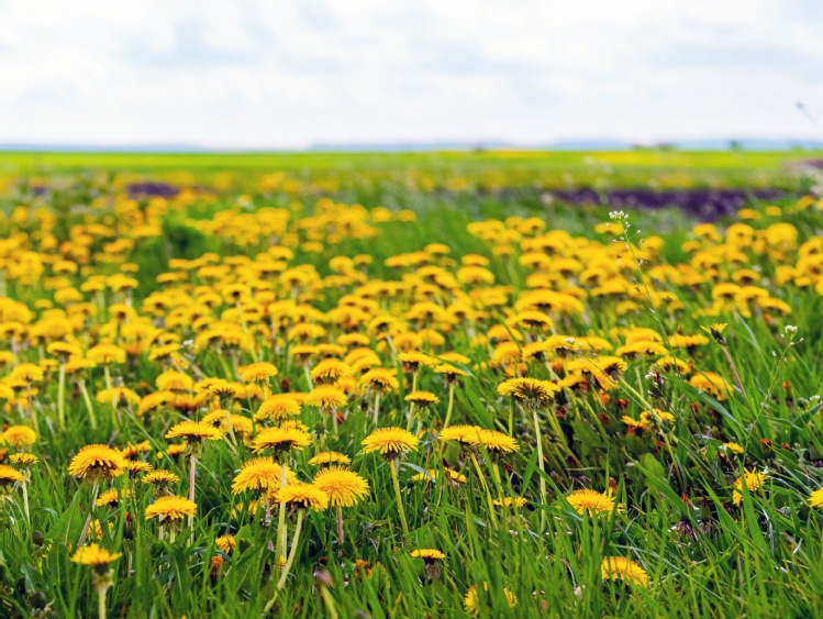
<instances>
[{"instance_id":1,"label":"whole grassy meadow of yellow dandelions, from foreground to the horizon","mask_svg":"<svg viewBox=\"0 0 823 619\"><path fill-rule=\"evenodd\" d=\"M747 156L0 155L0 616L822 616L821 185Z\"/></svg>"}]
</instances>

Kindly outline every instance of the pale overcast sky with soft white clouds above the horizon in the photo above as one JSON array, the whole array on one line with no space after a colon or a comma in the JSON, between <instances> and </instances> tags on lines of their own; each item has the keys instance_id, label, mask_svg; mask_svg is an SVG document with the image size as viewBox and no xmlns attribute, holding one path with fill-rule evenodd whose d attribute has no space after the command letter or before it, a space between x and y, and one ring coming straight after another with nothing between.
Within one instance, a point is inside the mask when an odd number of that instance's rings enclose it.
<instances>
[{"instance_id":1,"label":"pale overcast sky with soft white clouds above the horizon","mask_svg":"<svg viewBox=\"0 0 823 619\"><path fill-rule=\"evenodd\" d=\"M0 142L823 137L823 0L0 0Z\"/></svg>"}]
</instances>

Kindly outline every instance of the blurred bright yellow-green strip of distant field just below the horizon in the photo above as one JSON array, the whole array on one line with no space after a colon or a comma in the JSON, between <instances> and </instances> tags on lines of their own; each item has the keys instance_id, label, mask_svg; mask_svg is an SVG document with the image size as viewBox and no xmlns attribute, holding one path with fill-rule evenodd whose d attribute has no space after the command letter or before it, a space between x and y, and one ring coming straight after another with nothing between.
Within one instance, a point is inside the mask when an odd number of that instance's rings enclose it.
<instances>
[{"instance_id":1,"label":"blurred bright yellow-green strip of distant field just below the horizon","mask_svg":"<svg viewBox=\"0 0 823 619\"><path fill-rule=\"evenodd\" d=\"M209 185L252 191L263 175L279 174L308 194L352 201L433 190L488 192L512 188L569 187L654 189L691 187L797 190L812 152L547 152L426 153L0 153L0 184L75 173Z\"/></svg>"}]
</instances>

